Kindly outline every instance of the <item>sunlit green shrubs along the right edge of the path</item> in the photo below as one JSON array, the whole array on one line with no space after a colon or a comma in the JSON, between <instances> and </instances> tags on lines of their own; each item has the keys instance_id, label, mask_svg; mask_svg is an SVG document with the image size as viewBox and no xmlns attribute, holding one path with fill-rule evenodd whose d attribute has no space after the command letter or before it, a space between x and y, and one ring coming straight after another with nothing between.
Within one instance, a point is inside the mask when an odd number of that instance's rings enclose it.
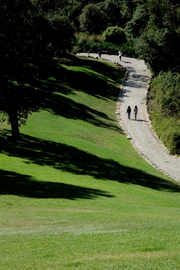
<instances>
[{"instance_id":1,"label":"sunlit green shrubs along the right edge of the path","mask_svg":"<svg viewBox=\"0 0 180 270\"><path fill-rule=\"evenodd\" d=\"M148 97L157 135L170 154L180 155L180 75L168 72L153 79Z\"/></svg>"}]
</instances>

